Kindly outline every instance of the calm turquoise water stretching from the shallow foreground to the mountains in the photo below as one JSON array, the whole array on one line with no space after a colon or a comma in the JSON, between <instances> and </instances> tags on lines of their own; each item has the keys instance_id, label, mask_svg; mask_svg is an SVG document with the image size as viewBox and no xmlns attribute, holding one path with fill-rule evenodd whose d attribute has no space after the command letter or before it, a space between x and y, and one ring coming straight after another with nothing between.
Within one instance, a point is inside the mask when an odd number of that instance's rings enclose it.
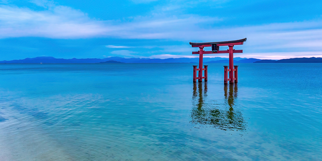
<instances>
[{"instance_id":1,"label":"calm turquoise water stretching from the shallow foreground to the mountains","mask_svg":"<svg viewBox=\"0 0 322 161\"><path fill-rule=\"evenodd\" d=\"M0 64L0 160L321 160L322 63Z\"/></svg>"}]
</instances>

